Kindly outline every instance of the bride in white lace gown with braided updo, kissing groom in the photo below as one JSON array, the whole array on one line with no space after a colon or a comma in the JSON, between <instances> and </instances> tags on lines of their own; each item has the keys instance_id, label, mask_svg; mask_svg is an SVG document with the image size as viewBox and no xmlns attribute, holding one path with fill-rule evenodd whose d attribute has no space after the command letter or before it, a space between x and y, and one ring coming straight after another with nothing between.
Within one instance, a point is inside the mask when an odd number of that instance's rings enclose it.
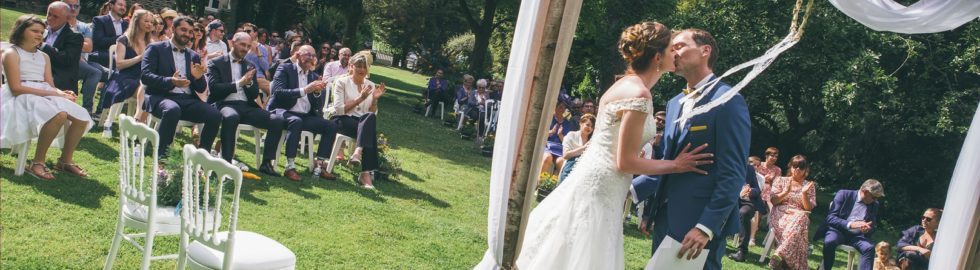
<instances>
[{"instance_id":1,"label":"bride in white lace gown with braided updo, kissing groom","mask_svg":"<svg viewBox=\"0 0 980 270\"><path fill-rule=\"evenodd\" d=\"M623 30L619 52L626 76L602 96L591 145L579 165L533 211L517 258L518 269L623 269L623 201L635 174L706 172L705 146L681 150L675 160L640 157L656 133L650 89L674 70L671 30L642 22ZM690 150L690 151L689 151ZM486 258L477 268L492 265Z\"/></svg>"}]
</instances>

